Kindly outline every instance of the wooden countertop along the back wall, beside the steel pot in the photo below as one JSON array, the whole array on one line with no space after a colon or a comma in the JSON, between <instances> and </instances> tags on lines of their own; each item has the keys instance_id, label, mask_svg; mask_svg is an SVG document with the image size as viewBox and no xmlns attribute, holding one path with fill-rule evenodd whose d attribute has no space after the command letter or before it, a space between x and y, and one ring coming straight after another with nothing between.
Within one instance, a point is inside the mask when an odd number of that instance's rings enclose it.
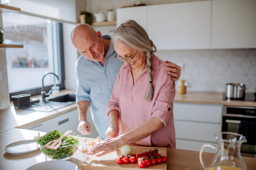
<instances>
[{"instance_id":1,"label":"wooden countertop along the back wall, beside the steel pot","mask_svg":"<svg viewBox=\"0 0 256 170\"><path fill-rule=\"evenodd\" d=\"M187 92L186 94L179 94L176 91L173 102L256 107L255 101L223 100L223 93L217 92Z\"/></svg>"}]
</instances>

